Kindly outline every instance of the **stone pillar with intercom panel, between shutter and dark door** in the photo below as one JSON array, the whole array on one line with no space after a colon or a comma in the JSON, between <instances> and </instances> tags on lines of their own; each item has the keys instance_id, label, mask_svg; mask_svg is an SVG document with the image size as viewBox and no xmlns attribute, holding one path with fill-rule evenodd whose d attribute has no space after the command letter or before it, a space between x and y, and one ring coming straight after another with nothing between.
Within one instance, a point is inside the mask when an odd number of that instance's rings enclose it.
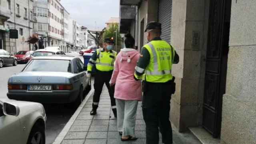
<instances>
[{"instance_id":1,"label":"stone pillar with intercom panel, between shutter and dark door","mask_svg":"<svg viewBox=\"0 0 256 144\"><path fill-rule=\"evenodd\" d=\"M209 0L172 0L172 46L180 56L172 74L176 93L172 96L170 119L180 132L202 123ZM200 33L194 47L193 32Z\"/></svg>"}]
</instances>

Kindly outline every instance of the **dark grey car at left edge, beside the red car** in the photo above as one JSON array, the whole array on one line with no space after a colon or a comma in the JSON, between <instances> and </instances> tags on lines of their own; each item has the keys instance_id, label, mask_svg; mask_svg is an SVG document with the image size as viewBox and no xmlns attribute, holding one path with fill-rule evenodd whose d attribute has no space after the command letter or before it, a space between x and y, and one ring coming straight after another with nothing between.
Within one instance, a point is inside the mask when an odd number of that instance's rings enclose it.
<instances>
[{"instance_id":1,"label":"dark grey car at left edge, beside the red car","mask_svg":"<svg viewBox=\"0 0 256 144\"><path fill-rule=\"evenodd\" d=\"M0 68L9 64L17 66L17 58L15 56L12 56L12 54L7 52L6 50L0 49Z\"/></svg>"}]
</instances>

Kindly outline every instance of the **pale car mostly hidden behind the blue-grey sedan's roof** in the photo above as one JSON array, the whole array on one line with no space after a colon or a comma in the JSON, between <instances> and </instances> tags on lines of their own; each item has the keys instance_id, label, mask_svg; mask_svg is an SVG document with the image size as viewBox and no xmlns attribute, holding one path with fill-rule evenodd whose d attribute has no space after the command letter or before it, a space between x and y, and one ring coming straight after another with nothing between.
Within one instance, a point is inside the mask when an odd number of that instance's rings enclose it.
<instances>
[{"instance_id":1,"label":"pale car mostly hidden behind the blue-grey sedan's roof","mask_svg":"<svg viewBox=\"0 0 256 144\"><path fill-rule=\"evenodd\" d=\"M60 55L66 55L65 52L63 52L62 50L59 49L39 49L36 50L32 57L37 57L37 56L50 56L50 55L54 55L54 54L60 54Z\"/></svg>"}]
</instances>

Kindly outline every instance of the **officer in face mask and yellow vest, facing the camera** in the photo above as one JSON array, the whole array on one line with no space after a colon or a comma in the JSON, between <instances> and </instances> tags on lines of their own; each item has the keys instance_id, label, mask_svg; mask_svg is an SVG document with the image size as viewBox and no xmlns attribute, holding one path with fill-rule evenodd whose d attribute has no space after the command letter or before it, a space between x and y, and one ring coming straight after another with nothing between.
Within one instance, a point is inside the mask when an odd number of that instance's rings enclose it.
<instances>
[{"instance_id":1,"label":"officer in face mask and yellow vest, facing the camera","mask_svg":"<svg viewBox=\"0 0 256 144\"><path fill-rule=\"evenodd\" d=\"M108 93L110 96L112 111L116 117L116 101L114 99L114 88L110 87L110 79L112 72L114 70L114 62L116 60L117 53L112 50L114 41L110 38L105 38L103 43L103 48L99 48L94 52L92 58L88 62L87 66L87 77L91 77L92 67L96 65L96 72L94 76L94 95L92 103L92 111L90 115L95 115L97 113L98 104L100 101L100 94L104 83L108 88Z\"/></svg>"}]
</instances>

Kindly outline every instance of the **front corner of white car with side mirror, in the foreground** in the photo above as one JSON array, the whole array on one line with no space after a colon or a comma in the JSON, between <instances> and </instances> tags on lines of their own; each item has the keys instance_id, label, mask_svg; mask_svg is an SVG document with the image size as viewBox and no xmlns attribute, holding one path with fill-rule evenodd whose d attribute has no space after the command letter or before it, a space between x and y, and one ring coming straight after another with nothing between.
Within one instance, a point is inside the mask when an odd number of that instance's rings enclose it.
<instances>
[{"instance_id":1,"label":"front corner of white car with side mirror, in the foreground","mask_svg":"<svg viewBox=\"0 0 256 144\"><path fill-rule=\"evenodd\" d=\"M42 104L0 100L1 144L45 144L45 122Z\"/></svg>"}]
</instances>

